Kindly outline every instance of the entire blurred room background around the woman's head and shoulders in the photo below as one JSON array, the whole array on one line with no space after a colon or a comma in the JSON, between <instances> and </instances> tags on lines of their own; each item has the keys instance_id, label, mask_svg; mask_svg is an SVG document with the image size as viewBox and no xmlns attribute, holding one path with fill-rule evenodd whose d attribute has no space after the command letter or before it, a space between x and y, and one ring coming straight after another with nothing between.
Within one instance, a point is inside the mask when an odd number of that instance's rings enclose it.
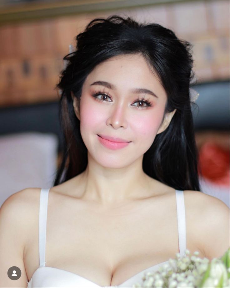
<instances>
[{"instance_id":1,"label":"entire blurred room background around the woman's head and shoulders","mask_svg":"<svg viewBox=\"0 0 230 288\"><path fill-rule=\"evenodd\" d=\"M0 0L0 206L24 188L52 187L63 57L91 20L112 14L159 23L193 44L201 191L229 207L229 0Z\"/></svg>"}]
</instances>

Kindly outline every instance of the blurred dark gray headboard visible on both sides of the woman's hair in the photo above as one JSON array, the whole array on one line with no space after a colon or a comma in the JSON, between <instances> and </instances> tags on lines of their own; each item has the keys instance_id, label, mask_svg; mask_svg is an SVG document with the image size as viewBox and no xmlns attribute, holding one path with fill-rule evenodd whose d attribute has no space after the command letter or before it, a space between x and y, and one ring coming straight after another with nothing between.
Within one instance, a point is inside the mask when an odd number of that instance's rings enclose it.
<instances>
[{"instance_id":1,"label":"blurred dark gray headboard visible on both sides of the woman's hair","mask_svg":"<svg viewBox=\"0 0 230 288\"><path fill-rule=\"evenodd\" d=\"M200 94L192 110L196 130L229 130L229 80L193 86ZM0 108L0 136L10 133L38 131L58 136L58 102Z\"/></svg>"}]
</instances>

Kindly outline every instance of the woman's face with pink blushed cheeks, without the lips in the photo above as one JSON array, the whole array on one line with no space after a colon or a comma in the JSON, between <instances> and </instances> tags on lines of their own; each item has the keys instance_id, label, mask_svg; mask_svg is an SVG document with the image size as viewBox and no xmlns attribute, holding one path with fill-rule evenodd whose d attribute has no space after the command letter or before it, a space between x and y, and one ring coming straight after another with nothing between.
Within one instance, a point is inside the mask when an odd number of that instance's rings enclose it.
<instances>
[{"instance_id":1,"label":"woman's face with pink blushed cheeks, without the lips","mask_svg":"<svg viewBox=\"0 0 230 288\"><path fill-rule=\"evenodd\" d=\"M77 99L74 100L90 156L110 168L126 167L140 160L155 136L164 130L159 127L166 100L163 86L141 55L116 56L96 66L83 84L80 113ZM98 135L131 142L114 150L104 146Z\"/></svg>"}]
</instances>

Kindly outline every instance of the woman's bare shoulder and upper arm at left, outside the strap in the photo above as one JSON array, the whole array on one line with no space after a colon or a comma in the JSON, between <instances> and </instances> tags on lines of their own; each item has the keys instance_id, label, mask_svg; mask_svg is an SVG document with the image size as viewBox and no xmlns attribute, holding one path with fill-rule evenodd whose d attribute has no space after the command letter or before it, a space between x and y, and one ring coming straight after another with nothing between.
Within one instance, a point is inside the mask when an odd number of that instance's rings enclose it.
<instances>
[{"instance_id":1,"label":"woman's bare shoulder and upper arm at left, outside the strap","mask_svg":"<svg viewBox=\"0 0 230 288\"><path fill-rule=\"evenodd\" d=\"M12 287L7 271L12 265L20 268L22 275L16 287L25 287L28 280L24 264L26 245L32 237L32 220L36 214L35 204L39 189L27 188L8 197L0 208L0 279L1 287ZM11 281L12 282L12 281Z\"/></svg>"}]
</instances>

